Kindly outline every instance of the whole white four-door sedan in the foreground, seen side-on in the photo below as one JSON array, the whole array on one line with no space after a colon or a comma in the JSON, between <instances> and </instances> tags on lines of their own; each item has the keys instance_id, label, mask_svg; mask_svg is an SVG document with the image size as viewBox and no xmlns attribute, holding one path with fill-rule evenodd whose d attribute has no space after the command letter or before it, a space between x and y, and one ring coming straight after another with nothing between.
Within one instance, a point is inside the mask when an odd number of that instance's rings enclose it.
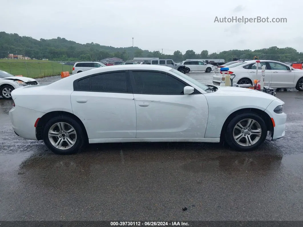
<instances>
[{"instance_id":1,"label":"whole white four-door sedan in the foreground, seen side-on","mask_svg":"<svg viewBox=\"0 0 303 227\"><path fill-rule=\"evenodd\" d=\"M12 92L15 133L56 154L84 142L220 142L240 151L285 135L280 99L247 88L202 85L159 65L101 67ZM256 102L257 100L257 102Z\"/></svg>"}]
</instances>

